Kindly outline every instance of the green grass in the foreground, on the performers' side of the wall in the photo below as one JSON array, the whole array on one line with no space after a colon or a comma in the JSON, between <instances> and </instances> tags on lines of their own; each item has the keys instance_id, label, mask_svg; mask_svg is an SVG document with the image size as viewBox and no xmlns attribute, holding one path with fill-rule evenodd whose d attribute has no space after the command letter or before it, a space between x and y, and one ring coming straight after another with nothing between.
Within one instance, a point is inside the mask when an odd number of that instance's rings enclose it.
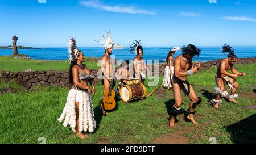
<instances>
[{"instance_id":1,"label":"green grass in the foreground, on the performers' side of the wall","mask_svg":"<svg viewBox=\"0 0 256 155\"><path fill-rule=\"evenodd\" d=\"M57 121L59 118L69 89L67 88L38 88L37 91L19 91L0 96L0 143L40 143L39 137L45 137L46 143L97 143L104 138L109 143L154 143L155 137L164 133L181 131L181 135L189 138L189 143L210 143L209 137L216 137L217 143L255 143L256 124L255 109L246 106L256 103L254 97L243 97L246 92L253 93L256 88L256 63L237 65L245 72L245 78L239 77L240 89L237 94L238 104L232 104L225 99L220 110L209 105L209 99L215 94L213 87L216 68L201 70L189 77L189 82L195 84L196 93L203 100L196 108L196 120L200 123L194 127L185 122L183 115L173 129L168 128L167 108L174 101L172 91L167 92L170 97L151 97L131 104L118 101L118 109L108 116L102 116L98 107L102 97L103 86L96 83L96 94L92 96L94 114L98 128L89 137L80 140L72 133L71 128L63 127ZM160 76L159 83L162 83ZM148 87L147 93L156 86ZM7 84L6 84L7 85ZM189 99L183 96L183 107L188 109ZM253 120L251 120L253 119ZM208 124L207 124L208 123ZM191 128L189 132L185 129Z\"/></svg>"}]
</instances>

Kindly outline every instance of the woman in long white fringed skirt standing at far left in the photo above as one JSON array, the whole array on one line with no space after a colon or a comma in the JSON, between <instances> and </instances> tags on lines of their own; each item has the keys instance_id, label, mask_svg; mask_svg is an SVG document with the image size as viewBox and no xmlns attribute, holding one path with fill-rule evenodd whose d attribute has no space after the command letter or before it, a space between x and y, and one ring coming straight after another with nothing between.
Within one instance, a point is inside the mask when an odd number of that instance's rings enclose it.
<instances>
[{"instance_id":1,"label":"woman in long white fringed skirt standing at far left","mask_svg":"<svg viewBox=\"0 0 256 155\"><path fill-rule=\"evenodd\" d=\"M69 82L72 89L68 93L67 102L64 110L58 119L59 122L64 120L64 127L70 125L73 132L77 132L77 136L85 139L87 135L84 132L94 132L96 121L94 120L94 112L92 107L92 99L90 94L95 94L95 88L92 82L90 71L82 62L84 62L84 54L76 47L76 40L69 40ZM88 82L92 89L88 86Z\"/></svg>"}]
</instances>

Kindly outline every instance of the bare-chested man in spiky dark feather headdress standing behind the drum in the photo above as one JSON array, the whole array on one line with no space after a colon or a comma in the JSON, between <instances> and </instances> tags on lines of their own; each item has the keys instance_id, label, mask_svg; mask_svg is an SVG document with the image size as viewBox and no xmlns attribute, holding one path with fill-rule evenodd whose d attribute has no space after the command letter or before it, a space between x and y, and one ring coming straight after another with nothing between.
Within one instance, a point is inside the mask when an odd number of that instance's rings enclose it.
<instances>
[{"instance_id":1,"label":"bare-chested man in spiky dark feather headdress standing behind the drum","mask_svg":"<svg viewBox=\"0 0 256 155\"><path fill-rule=\"evenodd\" d=\"M144 82L146 80L146 71L148 73L149 70L146 65L146 61L143 58L143 48L140 44L141 40L133 41L133 44L130 45L129 52L133 53L136 52L136 57L133 59L133 69L134 69L134 77L139 78L139 82Z\"/></svg>"}]
</instances>

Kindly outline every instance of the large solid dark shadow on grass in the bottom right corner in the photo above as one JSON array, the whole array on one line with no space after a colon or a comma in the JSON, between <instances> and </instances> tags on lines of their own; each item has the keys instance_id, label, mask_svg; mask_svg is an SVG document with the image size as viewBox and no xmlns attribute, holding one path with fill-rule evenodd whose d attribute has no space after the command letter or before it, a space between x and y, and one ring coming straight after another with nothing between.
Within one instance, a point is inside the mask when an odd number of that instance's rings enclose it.
<instances>
[{"instance_id":1,"label":"large solid dark shadow on grass in the bottom right corner","mask_svg":"<svg viewBox=\"0 0 256 155\"><path fill-rule=\"evenodd\" d=\"M256 114L225 128L232 136L233 143L256 143Z\"/></svg>"}]
</instances>

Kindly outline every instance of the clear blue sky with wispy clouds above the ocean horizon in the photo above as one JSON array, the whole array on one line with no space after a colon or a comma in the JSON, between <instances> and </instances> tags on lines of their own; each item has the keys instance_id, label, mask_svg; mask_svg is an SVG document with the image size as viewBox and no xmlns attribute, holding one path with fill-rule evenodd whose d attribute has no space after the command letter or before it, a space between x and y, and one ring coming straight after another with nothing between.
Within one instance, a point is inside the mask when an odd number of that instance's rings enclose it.
<instances>
[{"instance_id":1,"label":"clear blue sky with wispy clouds above the ocean horizon","mask_svg":"<svg viewBox=\"0 0 256 155\"><path fill-rule=\"evenodd\" d=\"M106 30L125 46L256 45L256 1L0 0L0 19L0 45L100 47Z\"/></svg>"}]
</instances>

